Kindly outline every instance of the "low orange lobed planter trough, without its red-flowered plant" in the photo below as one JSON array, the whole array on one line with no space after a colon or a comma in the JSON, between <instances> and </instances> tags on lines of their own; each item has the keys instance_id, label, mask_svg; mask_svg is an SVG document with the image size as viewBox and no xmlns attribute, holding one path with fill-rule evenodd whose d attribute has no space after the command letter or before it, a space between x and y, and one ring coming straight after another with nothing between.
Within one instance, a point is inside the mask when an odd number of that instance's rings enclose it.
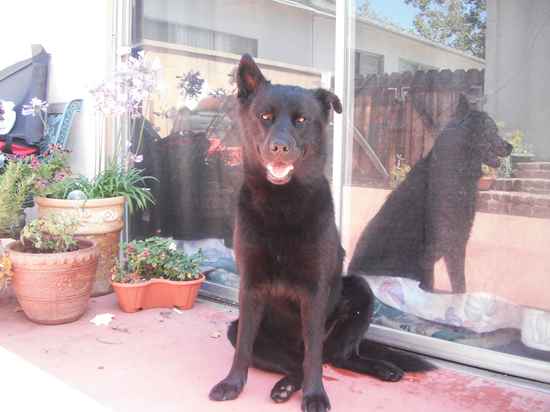
<instances>
[{"instance_id":1,"label":"low orange lobed planter trough, without its red-flowered plant","mask_svg":"<svg viewBox=\"0 0 550 412\"><path fill-rule=\"evenodd\" d=\"M141 309L171 308L191 309L199 289L204 282L200 279L175 282L166 279L151 279L143 283L117 283L113 288L118 304L124 312L137 312Z\"/></svg>"}]
</instances>

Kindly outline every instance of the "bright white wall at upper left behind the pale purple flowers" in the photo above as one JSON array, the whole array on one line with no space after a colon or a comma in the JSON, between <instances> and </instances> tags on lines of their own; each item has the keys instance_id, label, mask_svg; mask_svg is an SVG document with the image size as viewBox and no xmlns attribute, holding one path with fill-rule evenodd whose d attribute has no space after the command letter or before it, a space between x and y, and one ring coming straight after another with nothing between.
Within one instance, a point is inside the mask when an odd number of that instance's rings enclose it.
<instances>
[{"instance_id":1,"label":"bright white wall at upper left behind the pale purple flowers","mask_svg":"<svg viewBox=\"0 0 550 412\"><path fill-rule=\"evenodd\" d=\"M10 1L2 8L0 67L29 58L30 45L41 44L51 54L48 102L88 100L73 127L69 148L73 169L92 174L95 136L88 90L101 82L111 64L112 1Z\"/></svg>"}]
</instances>

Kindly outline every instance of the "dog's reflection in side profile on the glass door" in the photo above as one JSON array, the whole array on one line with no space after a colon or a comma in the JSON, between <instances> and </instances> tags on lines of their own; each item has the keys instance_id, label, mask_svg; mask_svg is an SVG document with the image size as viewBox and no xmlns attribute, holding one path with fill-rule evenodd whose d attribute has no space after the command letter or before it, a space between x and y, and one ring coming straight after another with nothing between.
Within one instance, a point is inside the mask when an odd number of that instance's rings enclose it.
<instances>
[{"instance_id":1,"label":"dog's reflection in side profile on the glass door","mask_svg":"<svg viewBox=\"0 0 550 412\"><path fill-rule=\"evenodd\" d=\"M493 119L461 95L455 119L363 231L349 271L410 277L431 291L434 265L443 257L453 292L465 292L481 165L498 167L511 151Z\"/></svg>"}]
</instances>

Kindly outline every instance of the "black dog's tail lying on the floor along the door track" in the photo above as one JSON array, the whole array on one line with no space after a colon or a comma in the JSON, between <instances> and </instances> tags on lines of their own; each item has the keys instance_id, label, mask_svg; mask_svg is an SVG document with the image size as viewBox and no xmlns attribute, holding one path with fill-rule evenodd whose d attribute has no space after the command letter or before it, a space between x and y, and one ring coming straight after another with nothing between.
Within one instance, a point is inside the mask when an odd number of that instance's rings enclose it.
<instances>
[{"instance_id":1,"label":"black dog's tail lying on the floor along the door track","mask_svg":"<svg viewBox=\"0 0 550 412\"><path fill-rule=\"evenodd\" d=\"M404 372L427 372L437 369L437 366L420 356L368 339L362 340L359 344L359 356L390 362Z\"/></svg>"}]
</instances>

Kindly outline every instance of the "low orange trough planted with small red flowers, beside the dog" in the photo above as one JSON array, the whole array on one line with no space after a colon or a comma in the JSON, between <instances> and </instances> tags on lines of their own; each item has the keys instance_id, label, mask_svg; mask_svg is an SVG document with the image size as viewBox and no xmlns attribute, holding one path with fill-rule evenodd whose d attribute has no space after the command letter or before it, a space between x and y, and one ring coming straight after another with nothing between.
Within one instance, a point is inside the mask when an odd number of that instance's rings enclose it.
<instances>
[{"instance_id":1,"label":"low orange trough planted with small red flowers, beside the dog","mask_svg":"<svg viewBox=\"0 0 550 412\"><path fill-rule=\"evenodd\" d=\"M113 288L124 312L140 309L191 309L204 281L199 251L187 255L172 239L150 237L124 246L113 267Z\"/></svg>"}]
</instances>

